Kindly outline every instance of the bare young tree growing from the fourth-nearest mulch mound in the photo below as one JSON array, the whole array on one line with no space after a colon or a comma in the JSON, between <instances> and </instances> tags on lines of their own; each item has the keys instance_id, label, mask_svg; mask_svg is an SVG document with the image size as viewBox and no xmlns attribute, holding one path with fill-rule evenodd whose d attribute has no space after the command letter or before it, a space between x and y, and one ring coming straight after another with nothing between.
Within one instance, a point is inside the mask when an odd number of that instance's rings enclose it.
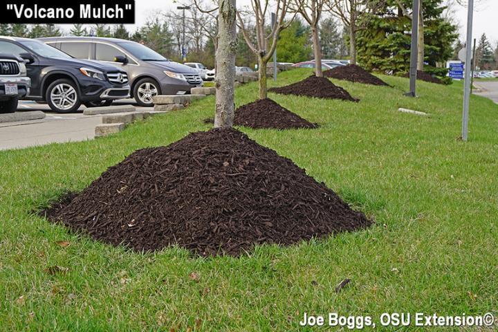
<instances>
[{"instance_id":1,"label":"bare young tree growing from the fourth-nearest mulch mound","mask_svg":"<svg viewBox=\"0 0 498 332\"><path fill-rule=\"evenodd\" d=\"M362 17L376 12L384 3L383 0L330 0L329 9L338 17L349 31L349 61L357 62L356 34L365 28Z\"/></svg>"}]
</instances>

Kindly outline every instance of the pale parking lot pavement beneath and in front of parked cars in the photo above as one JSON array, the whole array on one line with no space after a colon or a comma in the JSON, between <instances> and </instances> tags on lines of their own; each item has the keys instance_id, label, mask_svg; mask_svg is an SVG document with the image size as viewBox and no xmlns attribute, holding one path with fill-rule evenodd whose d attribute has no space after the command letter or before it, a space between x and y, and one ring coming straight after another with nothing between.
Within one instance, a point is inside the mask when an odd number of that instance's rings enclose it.
<instances>
[{"instance_id":1,"label":"pale parking lot pavement beneath and in front of parked cars","mask_svg":"<svg viewBox=\"0 0 498 332\"><path fill-rule=\"evenodd\" d=\"M152 107L139 107L134 100L126 99L113 105L133 104L138 111L151 111ZM0 123L0 150L46 145L53 142L91 140L95 126L102 123L102 116L84 116L84 107L75 113L59 114L46 104L31 101L19 102L18 112L44 111L46 118L25 122Z\"/></svg>"}]
</instances>

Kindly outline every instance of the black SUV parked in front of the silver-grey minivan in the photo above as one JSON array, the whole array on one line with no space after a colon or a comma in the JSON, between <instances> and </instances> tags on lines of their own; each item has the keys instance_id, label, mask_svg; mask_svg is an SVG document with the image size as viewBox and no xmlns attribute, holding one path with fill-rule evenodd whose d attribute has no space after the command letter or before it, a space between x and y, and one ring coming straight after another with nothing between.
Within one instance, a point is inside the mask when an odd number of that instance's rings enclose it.
<instances>
[{"instance_id":1,"label":"black SUV parked in front of the silver-grey minivan","mask_svg":"<svg viewBox=\"0 0 498 332\"><path fill-rule=\"evenodd\" d=\"M24 99L47 102L58 113L105 106L128 98L127 73L115 66L74 59L33 39L0 37L0 50L26 60L31 92Z\"/></svg>"}]
</instances>

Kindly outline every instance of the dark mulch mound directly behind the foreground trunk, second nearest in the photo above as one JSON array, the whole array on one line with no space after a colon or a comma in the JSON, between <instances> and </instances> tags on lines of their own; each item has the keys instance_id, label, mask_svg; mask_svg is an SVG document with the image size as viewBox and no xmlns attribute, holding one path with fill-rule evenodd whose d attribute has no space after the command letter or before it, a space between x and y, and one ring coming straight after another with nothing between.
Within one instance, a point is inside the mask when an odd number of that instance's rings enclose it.
<instances>
[{"instance_id":1,"label":"dark mulch mound directly behind the foreground trunk, second nearest","mask_svg":"<svg viewBox=\"0 0 498 332\"><path fill-rule=\"evenodd\" d=\"M211 124L214 123L214 120L208 118L204 120L204 123ZM318 127L317 124L301 118L268 98L239 107L235 111L234 124L255 129L312 129Z\"/></svg>"}]
</instances>

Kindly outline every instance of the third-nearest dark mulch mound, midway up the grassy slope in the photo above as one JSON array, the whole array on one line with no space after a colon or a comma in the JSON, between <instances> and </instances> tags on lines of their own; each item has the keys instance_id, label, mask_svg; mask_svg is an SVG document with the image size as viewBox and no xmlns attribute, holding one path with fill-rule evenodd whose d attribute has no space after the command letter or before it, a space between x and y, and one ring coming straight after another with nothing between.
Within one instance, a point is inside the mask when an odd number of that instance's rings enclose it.
<instances>
[{"instance_id":1,"label":"third-nearest dark mulch mound, midway up the grassy slope","mask_svg":"<svg viewBox=\"0 0 498 332\"><path fill-rule=\"evenodd\" d=\"M341 99L351 102L358 102L358 99L351 95L340 86L330 82L325 77L310 76L305 80L296 82L280 88L271 88L268 91L281 93L282 95L305 95L306 97Z\"/></svg>"}]
</instances>

